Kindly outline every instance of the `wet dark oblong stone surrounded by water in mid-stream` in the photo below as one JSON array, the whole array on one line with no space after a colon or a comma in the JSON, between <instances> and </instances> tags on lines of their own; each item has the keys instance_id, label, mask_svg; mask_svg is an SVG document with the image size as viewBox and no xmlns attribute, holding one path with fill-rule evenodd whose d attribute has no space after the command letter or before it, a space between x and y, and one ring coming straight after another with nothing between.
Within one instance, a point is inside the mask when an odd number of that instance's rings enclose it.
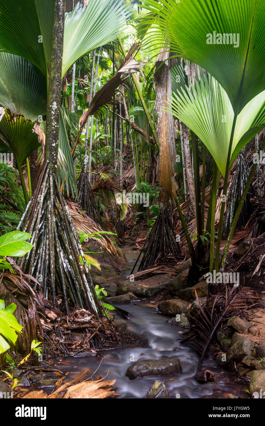
<instances>
[{"instance_id":1,"label":"wet dark oblong stone surrounded by water in mid-stream","mask_svg":"<svg viewBox=\"0 0 265 426\"><path fill-rule=\"evenodd\" d=\"M137 361L127 368L125 376L130 380L144 376L173 376L182 373L180 360L177 357L160 360Z\"/></svg>"}]
</instances>

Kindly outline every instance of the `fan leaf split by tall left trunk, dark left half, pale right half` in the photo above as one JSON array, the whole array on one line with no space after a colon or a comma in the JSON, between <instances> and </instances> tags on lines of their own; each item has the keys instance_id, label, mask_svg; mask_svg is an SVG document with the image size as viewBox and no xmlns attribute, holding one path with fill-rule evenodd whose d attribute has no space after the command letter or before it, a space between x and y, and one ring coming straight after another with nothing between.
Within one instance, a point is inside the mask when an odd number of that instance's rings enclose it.
<instances>
[{"instance_id":1,"label":"fan leaf split by tall left trunk, dark left half, pale right half","mask_svg":"<svg viewBox=\"0 0 265 426\"><path fill-rule=\"evenodd\" d=\"M0 3L0 51L27 59L44 76L51 59L53 6L53 0ZM77 59L117 38L124 25L123 0L90 0L84 8L77 3L66 13L62 77Z\"/></svg>"}]
</instances>

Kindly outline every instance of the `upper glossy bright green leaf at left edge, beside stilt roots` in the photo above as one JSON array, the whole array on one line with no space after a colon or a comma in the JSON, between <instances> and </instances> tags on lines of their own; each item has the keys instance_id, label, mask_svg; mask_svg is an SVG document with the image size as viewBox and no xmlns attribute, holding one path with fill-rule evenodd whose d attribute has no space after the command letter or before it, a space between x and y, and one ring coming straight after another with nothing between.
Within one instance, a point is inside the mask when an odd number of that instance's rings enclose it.
<instances>
[{"instance_id":1,"label":"upper glossy bright green leaf at left edge, beside stilt roots","mask_svg":"<svg viewBox=\"0 0 265 426\"><path fill-rule=\"evenodd\" d=\"M33 247L25 240L31 238L27 232L12 231L0 236L0 256L24 256Z\"/></svg>"}]
</instances>

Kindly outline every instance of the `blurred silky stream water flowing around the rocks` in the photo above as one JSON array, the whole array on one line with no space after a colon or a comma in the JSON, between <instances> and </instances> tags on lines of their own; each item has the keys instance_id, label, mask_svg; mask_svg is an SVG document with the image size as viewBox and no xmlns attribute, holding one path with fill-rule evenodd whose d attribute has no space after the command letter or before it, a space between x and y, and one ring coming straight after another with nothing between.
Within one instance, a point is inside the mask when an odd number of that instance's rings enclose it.
<instances>
[{"instance_id":1,"label":"blurred silky stream water flowing around the rocks","mask_svg":"<svg viewBox=\"0 0 265 426\"><path fill-rule=\"evenodd\" d=\"M123 281L128 276L137 259L139 252L135 252L131 247L124 247L128 264L131 266L127 271L123 271L119 281ZM109 281L109 291L115 291L117 285ZM194 379L195 370L199 360L198 354L189 346L180 343L182 338L182 328L169 324L168 318L159 314L156 306L144 302L131 302L130 304L119 304L117 308L127 311L128 319L117 317L114 322L124 330L130 331L142 339L148 340L148 347L116 348L100 351L101 357L68 357L68 365L63 366L64 371L69 371L69 378L74 374L81 373L85 368L90 368L91 374L101 377L107 376L106 380L116 379L117 393L120 398L142 398L155 380L165 383L171 398L226 398L228 394L246 398L246 386L235 383L234 376L228 370L218 367L214 360L214 354L204 361L203 369L210 369L215 374L217 383L198 383ZM102 358L104 354L112 355L112 359ZM166 377L141 377L129 380L125 376L127 368L138 360L159 359L162 357L174 357L180 359L182 374ZM58 364L60 368L60 363Z\"/></svg>"}]
</instances>

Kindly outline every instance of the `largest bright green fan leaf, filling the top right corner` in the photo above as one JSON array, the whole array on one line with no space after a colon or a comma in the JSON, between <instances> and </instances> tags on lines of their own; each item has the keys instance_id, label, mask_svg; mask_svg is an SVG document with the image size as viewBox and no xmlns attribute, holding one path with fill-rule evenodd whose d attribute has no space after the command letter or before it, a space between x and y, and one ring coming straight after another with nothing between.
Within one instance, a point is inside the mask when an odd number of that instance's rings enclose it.
<instances>
[{"instance_id":1,"label":"largest bright green fan leaf, filling the top right corner","mask_svg":"<svg viewBox=\"0 0 265 426\"><path fill-rule=\"evenodd\" d=\"M152 24L146 37L150 49L167 43L202 66L225 89L234 110L240 112L265 90L264 0L142 0L142 5L157 14L140 23ZM222 35L222 44L214 34Z\"/></svg>"}]
</instances>

